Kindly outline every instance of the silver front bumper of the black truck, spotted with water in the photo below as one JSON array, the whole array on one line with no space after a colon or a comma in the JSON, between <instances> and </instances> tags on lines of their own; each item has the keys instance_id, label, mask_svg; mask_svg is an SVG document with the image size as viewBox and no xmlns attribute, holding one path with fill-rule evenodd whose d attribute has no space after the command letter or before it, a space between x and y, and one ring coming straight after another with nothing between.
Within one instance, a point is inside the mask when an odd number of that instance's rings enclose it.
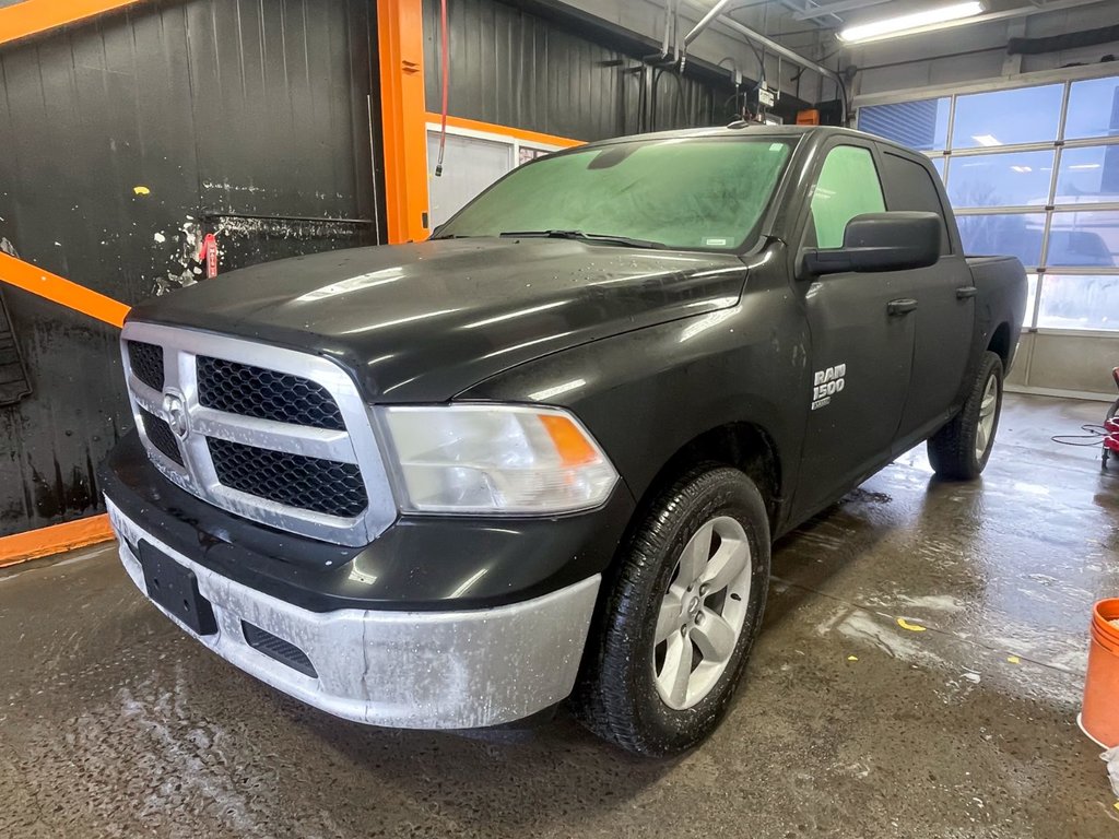
<instances>
[{"instance_id":1,"label":"silver front bumper of the black truck, spotted with water","mask_svg":"<svg viewBox=\"0 0 1119 839\"><path fill-rule=\"evenodd\" d=\"M310 612L204 568L105 501L132 582L147 594L129 547L142 539L195 573L218 631L197 635L160 611L222 658L328 714L394 728L477 728L535 714L574 687L599 575L497 609ZM298 647L318 678L251 647L242 621Z\"/></svg>"}]
</instances>

